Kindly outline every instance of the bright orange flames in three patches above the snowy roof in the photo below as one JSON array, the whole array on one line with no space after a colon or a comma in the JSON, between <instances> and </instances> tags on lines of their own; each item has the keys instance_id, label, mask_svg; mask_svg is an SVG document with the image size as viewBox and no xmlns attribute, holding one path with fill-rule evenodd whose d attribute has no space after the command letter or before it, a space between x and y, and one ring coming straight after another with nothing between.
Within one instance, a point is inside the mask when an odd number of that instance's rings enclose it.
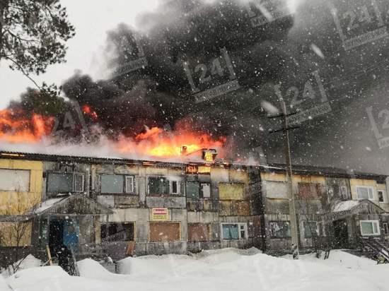
<instances>
[{"instance_id":1,"label":"bright orange flames in three patches above the snowy roof","mask_svg":"<svg viewBox=\"0 0 389 291\"><path fill-rule=\"evenodd\" d=\"M83 114L93 120L98 115L91 107L84 105ZM166 131L158 127L146 128L134 138L121 136L115 141L115 149L124 154L136 154L151 158L176 158L190 156L203 148L221 150L226 138L214 138L207 133L190 129L178 124L175 131ZM54 126L54 117L23 112L21 109L0 110L0 141L7 143L39 143L50 135ZM113 141L111 141L113 142Z\"/></svg>"}]
</instances>

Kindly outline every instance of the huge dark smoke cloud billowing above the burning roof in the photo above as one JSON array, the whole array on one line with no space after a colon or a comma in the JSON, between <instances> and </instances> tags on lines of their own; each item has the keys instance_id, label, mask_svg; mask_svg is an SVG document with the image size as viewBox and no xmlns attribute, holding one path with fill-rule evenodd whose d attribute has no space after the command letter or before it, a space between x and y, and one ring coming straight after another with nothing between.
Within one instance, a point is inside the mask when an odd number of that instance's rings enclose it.
<instances>
[{"instance_id":1,"label":"huge dark smoke cloud billowing above the burning roof","mask_svg":"<svg viewBox=\"0 0 389 291\"><path fill-rule=\"evenodd\" d=\"M333 2L349 9L364 3ZM389 10L388 2L378 2L382 11ZM278 3L284 5L286 0ZM385 89L376 88L388 81L388 38L345 51L327 4L301 0L293 16L252 27L242 1L161 1L156 12L139 16L139 31L120 24L108 32L111 69L138 53L117 46L123 36L132 35L141 43L147 66L109 81L93 81L77 73L62 88L69 99L91 105L99 115L98 125L112 137L120 133L133 136L145 125L173 127L185 121L194 130L228 136L236 153L261 145L270 162L283 162L281 135L267 134L268 129L281 126L280 120L268 119L261 102L279 107L274 85L281 83L283 97L290 104L292 95L286 95L287 89L303 88L312 81L312 72L318 71L332 112L293 131L294 162L354 168L367 165L371 151L364 155L366 150L356 148L355 143L377 151L376 140L368 138L364 111L373 102L387 106ZM207 102L194 102L183 63L208 64L223 47L241 88ZM364 141L353 141L354 133L364 136Z\"/></svg>"}]
</instances>

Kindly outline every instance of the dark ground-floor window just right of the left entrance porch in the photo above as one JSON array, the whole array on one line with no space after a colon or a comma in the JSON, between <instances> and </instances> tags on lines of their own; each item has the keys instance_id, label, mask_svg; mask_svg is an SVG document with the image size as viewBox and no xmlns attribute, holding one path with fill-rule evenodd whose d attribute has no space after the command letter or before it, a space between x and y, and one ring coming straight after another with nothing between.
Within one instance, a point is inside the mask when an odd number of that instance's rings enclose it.
<instances>
[{"instance_id":1,"label":"dark ground-floor window just right of the left entrance porch","mask_svg":"<svg viewBox=\"0 0 389 291\"><path fill-rule=\"evenodd\" d=\"M127 242L134 240L133 222L107 222L100 227L102 242Z\"/></svg>"}]
</instances>

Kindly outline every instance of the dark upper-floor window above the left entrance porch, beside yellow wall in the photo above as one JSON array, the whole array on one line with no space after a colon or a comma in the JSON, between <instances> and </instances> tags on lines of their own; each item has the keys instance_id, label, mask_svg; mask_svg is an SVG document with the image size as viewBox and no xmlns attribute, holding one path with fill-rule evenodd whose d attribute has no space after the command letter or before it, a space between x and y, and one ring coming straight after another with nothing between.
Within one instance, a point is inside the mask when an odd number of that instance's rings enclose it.
<instances>
[{"instance_id":1,"label":"dark upper-floor window above the left entrance porch, beside yellow wall","mask_svg":"<svg viewBox=\"0 0 389 291\"><path fill-rule=\"evenodd\" d=\"M47 174L47 192L69 193L83 192L84 177L81 173Z\"/></svg>"}]
</instances>

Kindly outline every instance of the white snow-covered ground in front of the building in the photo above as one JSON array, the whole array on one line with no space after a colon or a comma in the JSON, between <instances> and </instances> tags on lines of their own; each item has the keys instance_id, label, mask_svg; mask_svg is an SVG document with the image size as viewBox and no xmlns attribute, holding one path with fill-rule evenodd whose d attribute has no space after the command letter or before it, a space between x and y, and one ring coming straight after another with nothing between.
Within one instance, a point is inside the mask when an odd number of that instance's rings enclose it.
<instances>
[{"instance_id":1,"label":"white snow-covered ground in front of the building","mask_svg":"<svg viewBox=\"0 0 389 291\"><path fill-rule=\"evenodd\" d=\"M389 290L389 264L332 251L330 259L301 256L275 258L250 249L204 251L194 256L144 256L120 261L122 274L105 271L97 262L79 262L81 277L57 266L28 268L1 278L18 291L88 290Z\"/></svg>"}]
</instances>

